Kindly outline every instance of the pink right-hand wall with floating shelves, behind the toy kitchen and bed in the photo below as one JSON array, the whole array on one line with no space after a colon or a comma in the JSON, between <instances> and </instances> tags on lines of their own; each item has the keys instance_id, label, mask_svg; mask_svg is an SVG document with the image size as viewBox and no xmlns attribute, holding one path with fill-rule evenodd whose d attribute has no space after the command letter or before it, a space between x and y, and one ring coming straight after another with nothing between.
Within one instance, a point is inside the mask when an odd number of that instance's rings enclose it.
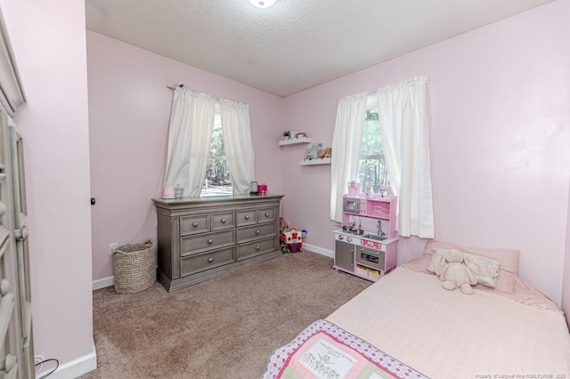
<instances>
[{"instance_id":1,"label":"pink right-hand wall with floating shelves, behind the toy kitchen and bed","mask_svg":"<svg viewBox=\"0 0 570 379\"><path fill-rule=\"evenodd\" d=\"M520 249L520 276L560 303L569 17L570 2L555 1L289 96L288 126L330 146L341 97L428 75L436 238ZM286 216L332 250L330 166L299 166L301 155L281 148ZM418 239L401 242L399 262L419 254Z\"/></svg>"}]
</instances>

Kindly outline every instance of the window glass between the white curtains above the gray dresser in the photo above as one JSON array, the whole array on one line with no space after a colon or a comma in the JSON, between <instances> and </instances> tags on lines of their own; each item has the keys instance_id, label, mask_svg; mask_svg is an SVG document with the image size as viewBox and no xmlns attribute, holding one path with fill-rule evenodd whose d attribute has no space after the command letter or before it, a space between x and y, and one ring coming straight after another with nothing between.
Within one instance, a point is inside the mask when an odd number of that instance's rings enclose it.
<instances>
[{"instance_id":1,"label":"window glass between the white curtains above the gray dresser","mask_svg":"<svg viewBox=\"0 0 570 379\"><path fill-rule=\"evenodd\" d=\"M214 113L214 130L210 142L210 157L206 169L206 179L200 196L232 195L230 171L225 160L224 134L219 104Z\"/></svg>"}]
</instances>

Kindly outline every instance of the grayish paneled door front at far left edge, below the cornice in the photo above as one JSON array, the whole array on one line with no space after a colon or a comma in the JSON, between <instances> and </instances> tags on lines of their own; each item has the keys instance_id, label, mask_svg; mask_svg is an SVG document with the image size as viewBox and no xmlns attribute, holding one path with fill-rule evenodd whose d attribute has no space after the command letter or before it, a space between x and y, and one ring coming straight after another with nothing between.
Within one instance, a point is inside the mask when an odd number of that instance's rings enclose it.
<instances>
[{"instance_id":1,"label":"grayish paneled door front at far left edge, below the cornice","mask_svg":"<svg viewBox=\"0 0 570 379\"><path fill-rule=\"evenodd\" d=\"M12 120L10 120L12 121ZM32 378L28 230L21 138L0 110L0 377Z\"/></svg>"}]
</instances>

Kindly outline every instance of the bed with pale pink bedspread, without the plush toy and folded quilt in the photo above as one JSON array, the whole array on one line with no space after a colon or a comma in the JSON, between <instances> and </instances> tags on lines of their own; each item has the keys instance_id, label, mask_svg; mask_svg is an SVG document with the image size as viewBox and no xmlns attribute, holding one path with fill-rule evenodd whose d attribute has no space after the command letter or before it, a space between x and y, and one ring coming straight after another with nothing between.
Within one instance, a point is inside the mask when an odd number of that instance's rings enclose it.
<instances>
[{"instance_id":1,"label":"bed with pale pink bedspread, without the plush toy and folded quilt","mask_svg":"<svg viewBox=\"0 0 570 379\"><path fill-rule=\"evenodd\" d=\"M434 246L449 245L428 244L326 320L431 378L570 379L564 314L517 278L517 251L453 246L501 262L495 288L462 294L426 270Z\"/></svg>"}]
</instances>

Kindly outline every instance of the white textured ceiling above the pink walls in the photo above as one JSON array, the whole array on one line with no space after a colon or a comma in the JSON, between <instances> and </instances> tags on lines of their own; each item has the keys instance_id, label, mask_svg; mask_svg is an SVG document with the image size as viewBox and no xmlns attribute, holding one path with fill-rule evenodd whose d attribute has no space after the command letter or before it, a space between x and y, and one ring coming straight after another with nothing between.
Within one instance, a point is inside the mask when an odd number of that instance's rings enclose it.
<instances>
[{"instance_id":1,"label":"white textured ceiling above the pink walls","mask_svg":"<svg viewBox=\"0 0 570 379\"><path fill-rule=\"evenodd\" d=\"M85 0L89 30L278 96L551 0Z\"/></svg>"}]
</instances>

